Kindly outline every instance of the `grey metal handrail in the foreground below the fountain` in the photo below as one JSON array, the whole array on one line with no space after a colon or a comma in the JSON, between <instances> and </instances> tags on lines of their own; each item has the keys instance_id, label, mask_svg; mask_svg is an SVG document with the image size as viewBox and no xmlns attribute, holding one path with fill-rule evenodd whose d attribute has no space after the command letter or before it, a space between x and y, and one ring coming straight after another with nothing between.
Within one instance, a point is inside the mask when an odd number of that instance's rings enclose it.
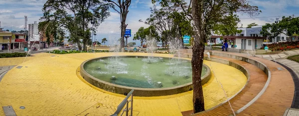
<instances>
[{"instance_id":1,"label":"grey metal handrail in the foreground below the fountain","mask_svg":"<svg viewBox=\"0 0 299 116\"><path fill-rule=\"evenodd\" d=\"M121 111L126 111L126 116L128 116L128 112L129 110L131 110L131 116L133 116L133 92L134 92L134 89L132 89L129 94L127 95L127 97L122 101L122 103L117 107L117 110L116 112L111 115L111 116L118 116L119 113ZM128 101L129 97L131 96L131 100ZM131 102L131 108L129 109L129 103ZM124 106L127 105L126 109L123 110ZM123 112L123 113L124 113ZM123 114L122 114L123 115Z\"/></svg>"}]
</instances>

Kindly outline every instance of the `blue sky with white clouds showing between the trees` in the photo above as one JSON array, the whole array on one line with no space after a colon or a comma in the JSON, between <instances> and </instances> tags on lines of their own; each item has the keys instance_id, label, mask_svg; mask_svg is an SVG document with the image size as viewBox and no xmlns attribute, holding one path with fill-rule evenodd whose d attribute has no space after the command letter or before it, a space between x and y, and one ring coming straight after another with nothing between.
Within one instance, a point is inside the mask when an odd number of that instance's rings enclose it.
<instances>
[{"instance_id":1,"label":"blue sky with white clouds showing between the trees","mask_svg":"<svg viewBox=\"0 0 299 116\"><path fill-rule=\"evenodd\" d=\"M34 21L39 22L42 14L43 4L47 0L0 0L0 28L5 30L24 30L24 15L27 15L27 24L31 24ZM189 2L190 0L185 0ZM260 15L255 18L251 18L248 15L239 14L241 22L238 26L243 24L243 27L250 23L256 23L264 25L266 23L273 23L276 18L281 19L282 16L299 16L299 0L248 0L249 4L259 6L262 10ZM156 4L158 5L158 4ZM129 13L127 16L127 29L132 29L132 37L129 38L128 42L133 41L134 34L140 27L148 27L149 25L139 22L140 19L145 21L150 15L150 7L153 4L151 0L132 0L131 6L129 7ZM120 15L110 10L111 16L109 16L105 22L103 22L97 29L96 39L100 41L103 38L107 38L106 44L111 45L116 43L120 37Z\"/></svg>"}]
</instances>

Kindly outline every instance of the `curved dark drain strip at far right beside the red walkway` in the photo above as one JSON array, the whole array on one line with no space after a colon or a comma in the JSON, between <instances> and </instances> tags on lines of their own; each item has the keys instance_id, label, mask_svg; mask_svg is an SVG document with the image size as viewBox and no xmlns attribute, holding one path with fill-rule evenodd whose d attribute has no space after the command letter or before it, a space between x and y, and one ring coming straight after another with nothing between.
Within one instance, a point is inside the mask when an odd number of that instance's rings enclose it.
<instances>
[{"instance_id":1,"label":"curved dark drain strip at far right beside the red walkway","mask_svg":"<svg viewBox=\"0 0 299 116\"><path fill-rule=\"evenodd\" d=\"M295 92L294 92L293 103L292 103L291 108L299 109L299 78L298 78L297 74L288 66L286 66L280 62L276 62L276 63L282 65L291 73L294 84L295 84Z\"/></svg>"}]
</instances>

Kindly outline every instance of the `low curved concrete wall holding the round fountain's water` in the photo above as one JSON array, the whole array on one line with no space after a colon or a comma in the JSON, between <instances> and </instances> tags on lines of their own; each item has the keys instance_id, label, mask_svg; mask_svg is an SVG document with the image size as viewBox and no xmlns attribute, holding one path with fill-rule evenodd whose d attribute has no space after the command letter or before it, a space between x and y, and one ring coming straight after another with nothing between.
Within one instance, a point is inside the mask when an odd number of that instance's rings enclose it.
<instances>
[{"instance_id":1,"label":"low curved concrete wall holding the round fountain's water","mask_svg":"<svg viewBox=\"0 0 299 116\"><path fill-rule=\"evenodd\" d=\"M107 58L107 57L103 57L103 58ZM98 59L98 58L93 58L93 59ZM125 93L129 93L132 89L134 89L134 96L150 97L150 96L166 96L166 95L179 94L179 93L191 91L193 89L192 82L175 86L175 87L168 87L168 88L135 88L135 87L116 85L113 83L102 81L90 75L84 70L84 64L93 59L86 60L80 65L80 74L87 82L105 91L118 93L118 94L125 94ZM204 67L207 69L207 73L202 77L202 82L201 82L202 84L208 82L211 77L210 68L205 64Z\"/></svg>"}]
</instances>

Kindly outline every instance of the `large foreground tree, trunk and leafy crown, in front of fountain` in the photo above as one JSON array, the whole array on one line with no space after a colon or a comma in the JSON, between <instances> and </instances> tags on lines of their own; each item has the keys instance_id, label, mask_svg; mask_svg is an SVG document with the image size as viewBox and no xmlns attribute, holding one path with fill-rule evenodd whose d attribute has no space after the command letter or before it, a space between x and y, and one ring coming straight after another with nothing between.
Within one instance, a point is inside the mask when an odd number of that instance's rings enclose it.
<instances>
[{"instance_id":1,"label":"large foreground tree, trunk and leafy crown, in front of fountain","mask_svg":"<svg viewBox=\"0 0 299 116\"><path fill-rule=\"evenodd\" d=\"M160 1L160 4L169 0ZM227 16L234 15L235 12L248 13L250 16L259 14L257 6L249 5L247 0L192 0L189 6L184 9L183 0L172 0L179 3L185 15L191 19L194 31L194 46L192 47L192 83L193 83L193 112L204 111L204 99L201 85L201 70L204 55L204 42L216 23L223 23ZM191 11L192 14L189 14Z\"/></svg>"}]
</instances>

